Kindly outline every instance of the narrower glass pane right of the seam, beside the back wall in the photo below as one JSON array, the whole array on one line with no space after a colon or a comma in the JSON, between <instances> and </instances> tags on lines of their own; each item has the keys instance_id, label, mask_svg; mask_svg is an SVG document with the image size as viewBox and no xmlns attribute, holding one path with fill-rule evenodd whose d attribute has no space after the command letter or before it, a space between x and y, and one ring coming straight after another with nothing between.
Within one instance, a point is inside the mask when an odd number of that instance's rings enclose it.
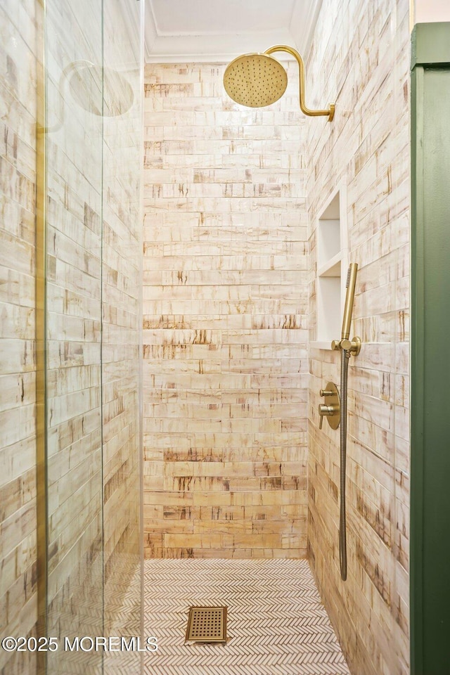
<instances>
[{"instance_id":1,"label":"narrower glass pane right of the seam, beside the back wall","mask_svg":"<svg viewBox=\"0 0 450 675\"><path fill-rule=\"evenodd\" d=\"M136 0L104 0L102 379L106 636L139 636L141 627L141 7L142 3ZM105 673L113 673L113 667L118 666L120 672L127 667L130 673L139 673L140 657L138 652L111 653L105 660Z\"/></svg>"}]
</instances>

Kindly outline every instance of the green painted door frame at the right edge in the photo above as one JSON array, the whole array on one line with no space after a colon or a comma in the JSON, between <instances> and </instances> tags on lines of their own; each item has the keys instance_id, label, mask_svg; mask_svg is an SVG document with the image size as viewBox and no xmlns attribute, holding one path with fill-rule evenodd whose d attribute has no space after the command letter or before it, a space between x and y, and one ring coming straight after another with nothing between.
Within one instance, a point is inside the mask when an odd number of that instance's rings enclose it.
<instances>
[{"instance_id":1,"label":"green painted door frame at the right edge","mask_svg":"<svg viewBox=\"0 0 450 675\"><path fill-rule=\"evenodd\" d=\"M450 675L450 23L411 57L411 674Z\"/></svg>"}]
</instances>

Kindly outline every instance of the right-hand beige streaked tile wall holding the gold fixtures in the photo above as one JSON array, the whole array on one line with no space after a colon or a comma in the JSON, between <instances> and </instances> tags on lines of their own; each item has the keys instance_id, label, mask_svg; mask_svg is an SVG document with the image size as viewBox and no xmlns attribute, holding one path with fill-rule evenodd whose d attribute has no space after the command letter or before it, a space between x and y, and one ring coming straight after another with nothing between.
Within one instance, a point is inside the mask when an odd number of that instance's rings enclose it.
<instances>
[{"instance_id":1,"label":"right-hand beige streaked tile wall holding the gold fixtures","mask_svg":"<svg viewBox=\"0 0 450 675\"><path fill-rule=\"evenodd\" d=\"M337 352L310 349L309 556L352 672L409 672L409 7L324 0L307 60L310 105L336 99L307 143L309 338L316 340L316 220L347 183L359 264L349 366L348 578L339 573L339 432L319 431ZM338 335L340 336L340 329Z\"/></svg>"}]
</instances>

